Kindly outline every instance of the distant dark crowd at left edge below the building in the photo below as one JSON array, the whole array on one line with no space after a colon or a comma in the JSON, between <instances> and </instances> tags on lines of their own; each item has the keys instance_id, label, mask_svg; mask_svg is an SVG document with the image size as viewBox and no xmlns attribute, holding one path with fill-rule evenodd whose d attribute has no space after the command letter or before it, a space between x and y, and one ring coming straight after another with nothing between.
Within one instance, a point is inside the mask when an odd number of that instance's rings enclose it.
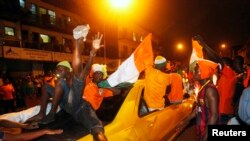
<instances>
[{"instance_id":1,"label":"distant dark crowd at left edge below the building","mask_svg":"<svg viewBox=\"0 0 250 141\"><path fill-rule=\"evenodd\" d=\"M0 78L0 86L2 89L9 89L9 92L2 95L1 107L3 108L0 109L0 114L19 111L38 104L46 77L47 74L35 77L26 75L18 78L3 75ZM5 106L6 104L8 106Z\"/></svg>"}]
</instances>

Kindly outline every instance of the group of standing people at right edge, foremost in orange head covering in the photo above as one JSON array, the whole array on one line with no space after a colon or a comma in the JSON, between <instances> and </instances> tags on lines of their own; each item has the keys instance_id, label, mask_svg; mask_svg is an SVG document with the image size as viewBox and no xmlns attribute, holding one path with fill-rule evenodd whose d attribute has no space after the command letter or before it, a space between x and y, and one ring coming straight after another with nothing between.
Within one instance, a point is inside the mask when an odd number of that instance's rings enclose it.
<instances>
[{"instance_id":1,"label":"group of standing people at right edge, foremost in orange head covering","mask_svg":"<svg viewBox=\"0 0 250 141\"><path fill-rule=\"evenodd\" d=\"M208 125L249 125L250 68L242 56L197 60L192 78L198 82L197 106L177 130L196 118L197 140L206 141Z\"/></svg>"}]
</instances>

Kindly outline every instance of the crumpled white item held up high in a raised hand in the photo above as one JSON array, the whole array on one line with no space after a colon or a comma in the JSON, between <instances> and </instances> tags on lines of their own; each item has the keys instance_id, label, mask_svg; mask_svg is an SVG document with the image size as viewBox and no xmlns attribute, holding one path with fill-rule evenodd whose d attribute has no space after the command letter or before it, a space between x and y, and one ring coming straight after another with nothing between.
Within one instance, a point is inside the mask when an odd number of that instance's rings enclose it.
<instances>
[{"instance_id":1,"label":"crumpled white item held up high in a raised hand","mask_svg":"<svg viewBox=\"0 0 250 141\"><path fill-rule=\"evenodd\" d=\"M86 41L86 37L89 33L89 25L79 25L73 30L73 37L74 39L80 39L83 38L83 41Z\"/></svg>"}]
</instances>

